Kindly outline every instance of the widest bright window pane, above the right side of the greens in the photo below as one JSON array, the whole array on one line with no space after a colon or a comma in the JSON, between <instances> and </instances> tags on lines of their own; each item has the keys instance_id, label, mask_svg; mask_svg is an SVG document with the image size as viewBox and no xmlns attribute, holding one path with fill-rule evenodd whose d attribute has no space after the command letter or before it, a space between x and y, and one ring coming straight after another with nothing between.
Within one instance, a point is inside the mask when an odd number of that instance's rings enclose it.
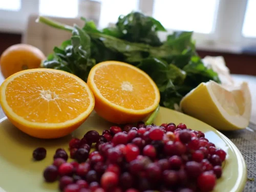
<instances>
[{"instance_id":1,"label":"widest bright window pane, above the right side of the greens","mask_svg":"<svg viewBox=\"0 0 256 192\"><path fill-rule=\"evenodd\" d=\"M155 0L153 17L166 29L211 33L218 0Z\"/></svg>"}]
</instances>

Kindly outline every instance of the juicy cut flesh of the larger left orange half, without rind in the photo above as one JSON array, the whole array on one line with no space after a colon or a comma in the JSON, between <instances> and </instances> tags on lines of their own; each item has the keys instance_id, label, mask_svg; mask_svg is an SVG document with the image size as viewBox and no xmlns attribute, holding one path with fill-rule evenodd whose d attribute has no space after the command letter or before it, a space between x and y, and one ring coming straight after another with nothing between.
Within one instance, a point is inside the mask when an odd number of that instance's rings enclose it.
<instances>
[{"instance_id":1,"label":"juicy cut flesh of the larger left orange half, without rind","mask_svg":"<svg viewBox=\"0 0 256 192\"><path fill-rule=\"evenodd\" d=\"M53 72L16 77L6 88L6 101L18 116L38 123L72 120L90 105L85 87L66 74Z\"/></svg>"}]
</instances>

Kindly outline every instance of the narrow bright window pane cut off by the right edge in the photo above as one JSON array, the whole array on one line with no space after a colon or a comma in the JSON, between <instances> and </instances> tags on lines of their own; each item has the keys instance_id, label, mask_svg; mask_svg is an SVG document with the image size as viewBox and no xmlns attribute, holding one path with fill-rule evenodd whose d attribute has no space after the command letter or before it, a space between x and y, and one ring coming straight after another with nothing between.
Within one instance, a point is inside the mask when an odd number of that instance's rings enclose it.
<instances>
[{"instance_id":1,"label":"narrow bright window pane cut off by the right edge","mask_svg":"<svg viewBox=\"0 0 256 192\"><path fill-rule=\"evenodd\" d=\"M248 0L242 34L245 37L256 37L255 18L256 1Z\"/></svg>"}]
</instances>

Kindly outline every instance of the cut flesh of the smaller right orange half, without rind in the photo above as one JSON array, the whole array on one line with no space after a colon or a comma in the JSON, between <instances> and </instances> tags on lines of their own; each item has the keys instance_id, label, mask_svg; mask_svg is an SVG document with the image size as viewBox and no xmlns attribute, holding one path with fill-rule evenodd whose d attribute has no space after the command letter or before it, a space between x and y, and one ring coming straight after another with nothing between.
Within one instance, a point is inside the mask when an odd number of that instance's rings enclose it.
<instances>
[{"instance_id":1,"label":"cut flesh of the smaller right orange half, without rind","mask_svg":"<svg viewBox=\"0 0 256 192\"><path fill-rule=\"evenodd\" d=\"M98 68L94 83L105 99L126 109L143 110L156 99L151 82L127 66L113 64Z\"/></svg>"}]
</instances>

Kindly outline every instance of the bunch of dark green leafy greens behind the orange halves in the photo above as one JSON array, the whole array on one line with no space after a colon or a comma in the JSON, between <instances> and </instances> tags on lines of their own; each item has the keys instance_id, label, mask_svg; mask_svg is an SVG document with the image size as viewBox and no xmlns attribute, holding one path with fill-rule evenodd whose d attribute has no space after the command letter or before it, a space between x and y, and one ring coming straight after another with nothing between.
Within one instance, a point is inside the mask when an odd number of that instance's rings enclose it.
<instances>
[{"instance_id":1,"label":"bunch of dark green leafy greens behind the orange halves","mask_svg":"<svg viewBox=\"0 0 256 192\"><path fill-rule=\"evenodd\" d=\"M91 20L81 19L85 22L82 29L38 17L37 22L72 32L71 39L55 47L41 67L68 71L87 81L98 62L127 62L151 76L160 91L160 105L170 109L201 82L220 82L217 73L207 69L198 56L191 40L193 32L174 32L161 41L158 31L165 28L140 12L120 15L114 27L102 30Z\"/></svg>"}]
</instances>

